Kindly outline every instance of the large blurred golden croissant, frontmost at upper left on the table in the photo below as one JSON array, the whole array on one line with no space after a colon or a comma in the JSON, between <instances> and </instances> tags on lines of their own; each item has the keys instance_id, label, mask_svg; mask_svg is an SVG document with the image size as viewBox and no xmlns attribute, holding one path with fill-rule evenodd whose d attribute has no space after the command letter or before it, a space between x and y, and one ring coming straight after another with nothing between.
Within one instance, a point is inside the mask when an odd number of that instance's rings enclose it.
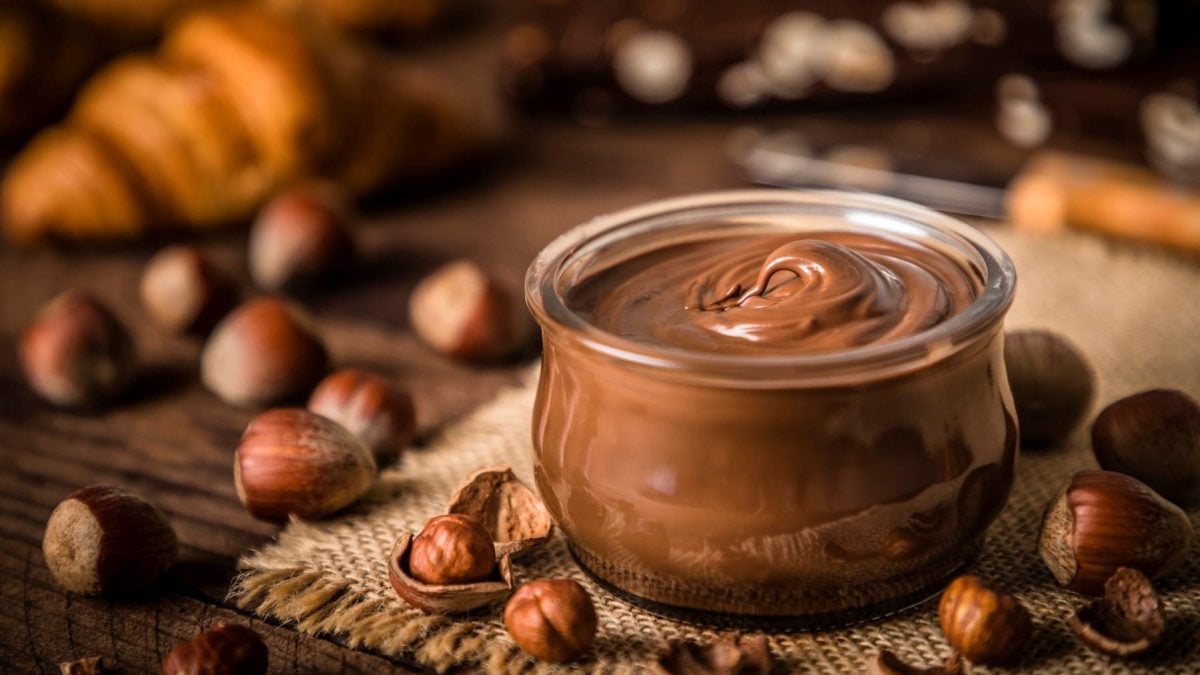
<instances>
[{"instance_id":1,"label":"large blurred golden croissant, frontmost at upper left on the table","mask_svg":"<svg viewBox=\"0 0 1200 675\"><path fill-rule=\"evenodd\" d=\"M205 8L84 86L11 165L0 217L13 241L211 229L307 177L355 196L430 177L490 133L413 66L260 7Z\"/></svg>"}]
</instances>

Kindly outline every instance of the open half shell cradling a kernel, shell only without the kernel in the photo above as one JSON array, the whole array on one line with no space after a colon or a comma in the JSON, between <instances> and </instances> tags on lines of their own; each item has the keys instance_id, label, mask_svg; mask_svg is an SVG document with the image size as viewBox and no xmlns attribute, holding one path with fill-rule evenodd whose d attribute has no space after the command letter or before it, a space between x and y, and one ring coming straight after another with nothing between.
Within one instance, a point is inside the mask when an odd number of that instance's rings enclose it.
<instances>
[{"instance_id":1,"label":"open half shell cradling a kernel, shell only without the kernel","mask_svg":"<svg viewBox=\"0 0 1200 675\"><path fill-rule=\"evenodd\" d=\"M409 569L415 537L401 534L388 558L388 579L396 595L426 614L462 614L496 604L512 592L512 563L502 557L486 579L468 584L426 584Z\"/></svg>"}]
</instances>

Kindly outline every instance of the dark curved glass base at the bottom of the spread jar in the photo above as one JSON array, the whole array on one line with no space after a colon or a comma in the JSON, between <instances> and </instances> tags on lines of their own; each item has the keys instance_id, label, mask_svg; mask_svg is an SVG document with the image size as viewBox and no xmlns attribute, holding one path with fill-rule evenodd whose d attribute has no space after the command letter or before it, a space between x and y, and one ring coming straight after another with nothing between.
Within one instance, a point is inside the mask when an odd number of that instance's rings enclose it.
<instances>
[{"instance_id":1,"label":"dark curved glass base at the bottom of the spread jar","mask_svg":"<svg viewBox=\"0 0 1200 675\"><path fill-rule=\"evenodd\" d=\"M568 548L600 586L652 614L718 628L824 631L883 619L931 599L978 556L983 538L919 573L829 593L667 584L618 569L571 543Z\"/></svg>"}]
</instances>

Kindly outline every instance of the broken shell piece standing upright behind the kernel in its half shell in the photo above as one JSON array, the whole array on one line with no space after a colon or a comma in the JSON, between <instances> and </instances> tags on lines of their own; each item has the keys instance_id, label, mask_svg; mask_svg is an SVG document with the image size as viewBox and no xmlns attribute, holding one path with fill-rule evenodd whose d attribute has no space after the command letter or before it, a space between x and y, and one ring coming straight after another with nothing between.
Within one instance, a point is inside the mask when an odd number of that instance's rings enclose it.
<instances>
[{"instance_id":1,"label":"broken shell piece standing upright behind the kernel in its half shell","mask_svg":"<svg viewBox=\"0 0 1200 675\"><path fill-rule=\"evenodd\" d=\"M520 556L554 533L546 504L509 466L480 468L450 496L449 513L475 518L491 532L497 555Z\"/></svg>"}]
</instances>

